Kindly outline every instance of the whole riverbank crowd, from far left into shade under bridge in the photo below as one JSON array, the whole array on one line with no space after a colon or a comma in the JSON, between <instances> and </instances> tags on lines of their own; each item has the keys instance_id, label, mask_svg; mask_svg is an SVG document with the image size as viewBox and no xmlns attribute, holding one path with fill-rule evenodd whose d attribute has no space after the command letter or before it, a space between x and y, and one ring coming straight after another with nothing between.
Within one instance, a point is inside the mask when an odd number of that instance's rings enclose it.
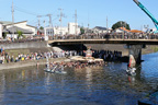
<instances>
[{"instance_id":1,"label":"whole riverbank crowd, from far left into shade under bridge","mask_svg":"<svg viewBox=\"0 0 158 105\"><path fill-rule=\"evenodd\" d=\"M30 52L30 54L19 54L16 57L4 52L4 49L1 48L1 58L0 63L9 62L19 62L26 60L40 60L48 58L63 58L69 56L86 56L83 50L63 50L63 51L46 51L46 52ZM92 57L104 59L104 61L116 61L122 57L121 51L110 51L110 50L92 50Z\"/></svg>"}]
</instances>

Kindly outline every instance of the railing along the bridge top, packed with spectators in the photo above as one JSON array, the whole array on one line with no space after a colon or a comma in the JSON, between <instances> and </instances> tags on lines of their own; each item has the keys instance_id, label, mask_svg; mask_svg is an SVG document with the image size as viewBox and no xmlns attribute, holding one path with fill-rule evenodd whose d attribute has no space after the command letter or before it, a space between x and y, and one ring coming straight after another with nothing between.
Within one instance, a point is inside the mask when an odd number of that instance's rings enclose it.
<instances>
[{"instance_id":1,"label":"railing along the bridge top, packed with spectators","mask_svg":"<svg viewBox=\"0 0 158 105\"><path fill-rule=\"evenodd\" d=\"M158 39L155 34L82 34L82 35L55 35L49 39Z\"/></svg>"}]
</instances>

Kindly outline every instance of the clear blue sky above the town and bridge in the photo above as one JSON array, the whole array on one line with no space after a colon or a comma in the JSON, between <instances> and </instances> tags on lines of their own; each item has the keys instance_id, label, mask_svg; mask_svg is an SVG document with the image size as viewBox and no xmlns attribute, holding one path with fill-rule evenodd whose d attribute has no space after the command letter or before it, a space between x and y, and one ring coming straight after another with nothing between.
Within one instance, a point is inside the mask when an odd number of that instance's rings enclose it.
<instances>
[{"instance_id":1,"label":"clear blue sky above the town and bridge","mask_svg":"<svg viewBox=\"0 0 158 105\"><path fill-rule=\"evenodd\" d=\"M158 19L158 0L139 0ZM12 21L11 15L12 0L0 0L0 21ZM59 8L64 9L66 18L63 19L63 25L68 22L75 22L75 10L78 13L79 25L90 27L106 26L106 16L109 18L109 27L117 21L125 21L131 28L140 30L143 25L155 27L151 20L133 2L133 0L14 0L16 9L38 15L53 14L53 20L59 15ZM37 24L36 15L20 12L15 9L15 22L29 21L30 25ZM41 24L48 18L42 18ZM59 25L59 19L53 21L53 25Z\"/></svg>"}]
</instances>

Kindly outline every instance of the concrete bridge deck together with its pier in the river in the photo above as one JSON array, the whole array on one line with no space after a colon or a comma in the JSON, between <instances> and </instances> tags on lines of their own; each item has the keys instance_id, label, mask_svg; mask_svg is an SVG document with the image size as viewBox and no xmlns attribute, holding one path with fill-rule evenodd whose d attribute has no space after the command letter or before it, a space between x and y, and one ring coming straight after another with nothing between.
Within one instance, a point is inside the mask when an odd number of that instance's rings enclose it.
<instances>
[{"instance_id":1,"label":"concrete bridge deck together with its pier in the river","mask_svg":"<svg viewBox=\"0 0 158 105\"><path fill-rule=\"evenodd\" d=\"M146 45L158 45L158 39L53 39L48 40L52 46L82 45L82 44L126 44L129 55L133 55L136 62L142 61L142 48Z\"/></svg>"}]
</instances>

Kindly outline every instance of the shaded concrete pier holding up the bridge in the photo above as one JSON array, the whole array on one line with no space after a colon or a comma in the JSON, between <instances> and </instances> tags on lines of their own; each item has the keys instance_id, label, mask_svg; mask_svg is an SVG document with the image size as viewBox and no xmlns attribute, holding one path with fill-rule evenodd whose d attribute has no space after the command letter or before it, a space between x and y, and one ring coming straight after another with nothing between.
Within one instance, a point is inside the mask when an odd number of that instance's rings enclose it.
<instances>
[{"instance_id":1,"label":"shaded concrete pier holding up the bridge","mask_svg":"<svg viewBox=\"0 0 158 105\"><path fill-rule=\"evenodd\" d=\"M136 63L142 61L142 48L143 45L128 45L128 54L133 55Z\"/></svg>"}]
</instances>

